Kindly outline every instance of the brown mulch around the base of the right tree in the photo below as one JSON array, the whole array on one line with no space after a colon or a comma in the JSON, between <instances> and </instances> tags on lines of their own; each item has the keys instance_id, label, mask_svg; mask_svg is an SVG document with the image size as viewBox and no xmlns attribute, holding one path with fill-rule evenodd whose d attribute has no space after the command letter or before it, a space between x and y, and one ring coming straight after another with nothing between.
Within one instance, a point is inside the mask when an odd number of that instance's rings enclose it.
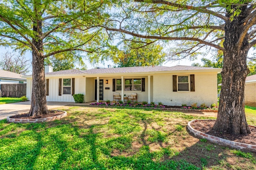
<instances>
[{"instance_id":1,"label":"brown mulch around the base of the right tree","mask_svg":"<svg viewBox=\"0 0 256 170\"><path fill-rule=\"evenodd\" d=\"M215 121L194 121L190 125L202 133L212 135L215 137L220 137L222 139L227 139L229 141L246 143L249 145L256 145L256 128L250 127L251 133L247 135L231 135L220 133L219 131L212 130Z\"/></svg>"}]
</instances>

